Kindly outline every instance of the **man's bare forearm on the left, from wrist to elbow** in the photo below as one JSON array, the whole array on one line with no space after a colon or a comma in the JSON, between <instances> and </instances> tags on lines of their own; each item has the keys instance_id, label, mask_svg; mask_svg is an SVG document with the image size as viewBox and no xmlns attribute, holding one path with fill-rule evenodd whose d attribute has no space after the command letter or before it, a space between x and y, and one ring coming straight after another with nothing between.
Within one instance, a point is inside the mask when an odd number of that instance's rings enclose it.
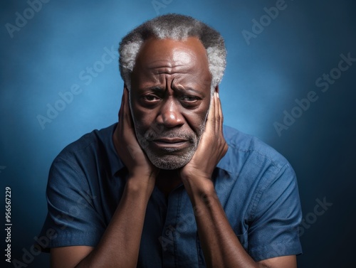
<instances>
[{"instance_id":1,"label":"man's bare forearm on the left, from wrist to elbow","mask_svg":"<svg viewBox=\"0 0 356 268\"><path fill-rule=\"evenodd\" d=\"M125 191L103 237L76 267L136 267L147 203L152 191L127 180Z\"/></svg>"}]
</instances>

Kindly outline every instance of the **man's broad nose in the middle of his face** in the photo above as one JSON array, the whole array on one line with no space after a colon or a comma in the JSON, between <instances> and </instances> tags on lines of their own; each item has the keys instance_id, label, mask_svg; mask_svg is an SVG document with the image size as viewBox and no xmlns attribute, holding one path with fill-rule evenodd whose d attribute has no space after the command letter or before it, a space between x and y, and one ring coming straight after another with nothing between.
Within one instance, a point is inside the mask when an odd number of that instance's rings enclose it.
<instances>
[{"instance_id":1,"label":"man's broad nose in the middle of his face","mask_svg":"<svg viewBox=\"0 0 356 268\"><path fill-rule=\"evenodd\" d=\"M162 103L157 116L157 123L163 127L179 127L184 124L184 117L179 110L179 104L171 96Z\"/></svg>"}]
</instances>

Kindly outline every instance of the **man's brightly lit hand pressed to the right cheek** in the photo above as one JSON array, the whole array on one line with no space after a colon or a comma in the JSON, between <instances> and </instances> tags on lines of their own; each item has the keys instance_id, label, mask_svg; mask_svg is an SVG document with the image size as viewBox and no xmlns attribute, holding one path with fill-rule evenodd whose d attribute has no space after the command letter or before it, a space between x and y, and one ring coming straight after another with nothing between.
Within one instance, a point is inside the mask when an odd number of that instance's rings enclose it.
<instances>
[{"instance_id":1,"label":"man's brightly lit hand pressed to the right cheek","mask_svg":"<svg viewBox=\"0 0 356 268\"><path fill-rule=\"evenodd\" d=\"M201 136L197 151L195 151L191 161L180 171L180 176L186 188L187 185L192 183L192 180L211 179L216 164L219 163L228 149L222 130L223 114L221 102L219 94L214 92L205 130Z\"/></svg>"}]
</instances>

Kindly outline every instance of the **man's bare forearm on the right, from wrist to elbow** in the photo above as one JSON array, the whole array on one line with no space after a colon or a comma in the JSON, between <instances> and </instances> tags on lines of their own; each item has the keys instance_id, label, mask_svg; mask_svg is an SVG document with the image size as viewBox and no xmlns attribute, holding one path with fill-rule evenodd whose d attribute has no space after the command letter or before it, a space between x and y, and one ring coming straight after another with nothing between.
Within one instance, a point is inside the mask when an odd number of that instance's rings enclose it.
<instances>
[{"instance_id":1,"label":"man's bare forearm on the right, from wrist to elbow","mask_svg":"<svg viewBox=\"0 0 356 268\"><path fill-rule=\"evenodd\" d=\"M211 181L185 184L196 211L207 267L261 267L247 254L226 218Z\"/></svg>"}]
</instances>

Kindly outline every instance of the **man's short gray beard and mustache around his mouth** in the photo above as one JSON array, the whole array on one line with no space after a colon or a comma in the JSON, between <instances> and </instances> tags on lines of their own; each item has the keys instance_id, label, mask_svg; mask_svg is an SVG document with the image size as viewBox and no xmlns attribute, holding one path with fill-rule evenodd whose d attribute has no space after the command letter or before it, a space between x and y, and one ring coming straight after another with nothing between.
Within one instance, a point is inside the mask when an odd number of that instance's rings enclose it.
<instances>
[{"instance_id":1,"label":"man's short gray beard and mustache around his mouth","mask_svg":"<svg viewBox=\"0 0 356 268\"><path fill-rule=\"evenodd\" d=\"M145 151L148 159L150 159L151 163L156 166L157 168L160 169L167 169L167 170L173 170L177 168L182 168L182 166L185 166L188 164L188 162L192 159L195 151L197 151L199 141L201 139L201 135L204 132L204 127L205 127L205 122L201 124L199 127L199 132L197 134L193 133L184 133L184 132L179 132L177 130L173 131L163 131L162 129L159 129L158 127L151 127L150 129L147 130L147 132L142 135L139 130L139 126L137 122L135 123L135 132L136 132L136 137L137 141L140 144L141 148L143 151ZM174 152L178 151L178 149L174 148L168 148L167 150L167 155L166 156L158 156L155 154L154 151L152 151L149 147L149 141L152 141L154 139L159 139L159 138L182 138L182 139L187 139L189 143L191 144L189 146L189 149L186 153L182 155L172 155L169 154L169 152Z\"/></svg>"}]
</instances>

